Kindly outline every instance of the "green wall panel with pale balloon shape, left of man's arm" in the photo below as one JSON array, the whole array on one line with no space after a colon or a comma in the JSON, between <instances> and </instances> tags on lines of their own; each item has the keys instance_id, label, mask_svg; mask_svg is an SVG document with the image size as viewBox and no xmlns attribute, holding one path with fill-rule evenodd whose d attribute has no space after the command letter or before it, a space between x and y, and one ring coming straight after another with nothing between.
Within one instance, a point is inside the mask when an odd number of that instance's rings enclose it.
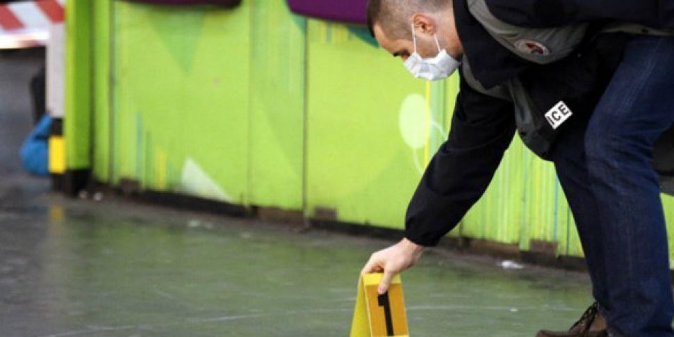
<instances>
[{"instance_id":1,"label":"green wall panel with pale balloon shape, left of man's arm","mask_svg":"<svg viewBox=\"0 0 674 337\"><path fill-rule=\"evenodd\" d=\"M333 208L343 222L402 227L446 135L445 92L409 79L400 60L347 26L311 20L307 43L306 213Z\"/></svg>"}]
</instances>

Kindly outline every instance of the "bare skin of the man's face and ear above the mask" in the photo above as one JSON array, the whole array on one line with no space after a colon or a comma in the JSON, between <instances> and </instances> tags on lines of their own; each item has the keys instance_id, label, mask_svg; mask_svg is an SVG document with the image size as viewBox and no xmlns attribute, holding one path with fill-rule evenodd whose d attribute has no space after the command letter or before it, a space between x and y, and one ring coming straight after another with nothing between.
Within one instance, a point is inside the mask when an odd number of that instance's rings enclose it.
<instances>
[{"instance_id":1,"label":"bare skin of the man's face and ear above the mask","mask_svg":"<svg viewBox=\"0 0 674 337\"><path fill-rule=\"evenodd\" d=\"M406 61L410 55L414 53L414 42L410 33L409 38L393 39L388 38L384 29L380 24L375 24L373 27L375 31L375 38L379 45L386 49L393 57L400 57L402 61ZM417 51L422 58L430 58L438 55L438 47L432 34L422 33L417 30Z\"/></svg>"}]
</instances>

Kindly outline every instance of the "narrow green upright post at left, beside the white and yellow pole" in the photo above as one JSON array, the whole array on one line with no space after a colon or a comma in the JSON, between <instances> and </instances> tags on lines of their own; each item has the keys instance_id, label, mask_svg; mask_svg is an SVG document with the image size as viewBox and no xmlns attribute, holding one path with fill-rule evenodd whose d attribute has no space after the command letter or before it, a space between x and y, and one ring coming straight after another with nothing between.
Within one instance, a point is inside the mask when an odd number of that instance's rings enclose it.
<instances>
[{"instance_id":1,"label":"narrow green upright post at left, beside the white and yellow pole","mask_svg":"<svg viewBox=\"0 0 674 337\"><path fill-rule=\"evenodd\" d=\"M91 167L91 1L67 2L65 43L65 165L67 170Z\"/></svg>"}]
</instances>

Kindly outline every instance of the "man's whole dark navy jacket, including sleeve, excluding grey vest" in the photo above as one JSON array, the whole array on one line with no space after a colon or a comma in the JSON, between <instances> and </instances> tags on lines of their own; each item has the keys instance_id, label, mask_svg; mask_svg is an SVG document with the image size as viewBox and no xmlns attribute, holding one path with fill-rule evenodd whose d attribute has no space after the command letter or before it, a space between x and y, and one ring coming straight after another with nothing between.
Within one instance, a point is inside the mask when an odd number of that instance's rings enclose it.
<instances>
[{"instance_id":1,"label":"man's whole dark navy jacket, including sleeve, excluding grey vest","mask_svg":"<svg viewBox=\"0 0 674 337\"><path fill-rule=\"evenodd\" d=\"M519 26L618 21L674 28L674 1L486 1L493 15ZM582 94L570 97L577 104L574 113L591 113L615 69L611 65L617 67L622 55L620 43L598 39L582 57L533 65L493 40L470 15L466 0L454 0L454 15L472 73L485 88L513 76L528 81L543 99L581 88ZM598 66L587 72L588 63ZM420 245L436 245L484 194L516 131L512 102L481 94L463 80L460 89L449 138L429 163L407 209L406 238Z\"/></svg>"}]
</instances>

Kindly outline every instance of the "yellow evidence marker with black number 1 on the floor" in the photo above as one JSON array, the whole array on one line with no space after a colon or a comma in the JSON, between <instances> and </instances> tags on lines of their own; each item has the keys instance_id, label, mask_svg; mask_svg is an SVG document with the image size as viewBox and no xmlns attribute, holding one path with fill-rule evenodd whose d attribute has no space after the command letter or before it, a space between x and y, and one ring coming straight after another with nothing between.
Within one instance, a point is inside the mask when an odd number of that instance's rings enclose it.
<instances>
[{"instance_id":1,"label":"yellow evidence marker with black number 1 on the floor","mask_svg":"<svg viewBox=\"0 0 674 337\"><path fill-rule=\"evenodd\" d=\"M377 288L384 274L365 274L358 283L351 337L409 337L400 275L393 277L388 293Z\"/></svg>"}]
</instances>

